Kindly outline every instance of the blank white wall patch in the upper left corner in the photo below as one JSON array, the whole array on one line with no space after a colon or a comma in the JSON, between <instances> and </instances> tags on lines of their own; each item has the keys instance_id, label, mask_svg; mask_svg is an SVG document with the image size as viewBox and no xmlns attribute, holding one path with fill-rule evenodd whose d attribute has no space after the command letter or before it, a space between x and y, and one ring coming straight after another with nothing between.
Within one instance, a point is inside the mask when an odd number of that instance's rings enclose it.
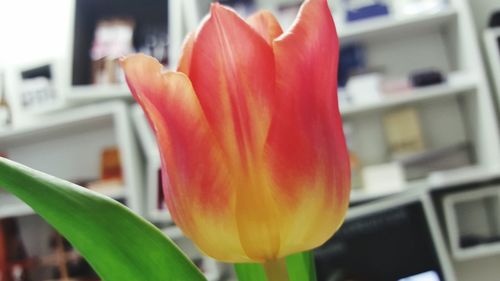
<instances>
[{"instance_id":1,"label":"blank white wall patch in the upper left corner","mask_svg":"<svg viewBox=\"0 0 500 281\"><path fill-rule=\"evenodd\" d=\"M68 0L0 1L0 68L64 58L72 5Z\"/></svg>"}]
</instances>

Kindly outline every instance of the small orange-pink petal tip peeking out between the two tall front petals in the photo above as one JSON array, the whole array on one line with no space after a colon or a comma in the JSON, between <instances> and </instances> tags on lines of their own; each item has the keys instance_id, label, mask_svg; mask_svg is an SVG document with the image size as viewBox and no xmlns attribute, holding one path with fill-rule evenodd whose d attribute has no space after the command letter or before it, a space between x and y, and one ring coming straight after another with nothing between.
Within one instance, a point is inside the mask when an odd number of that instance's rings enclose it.
<instances>
[{"instance_id":1,"label":"small orange-pink petal tip peeking out between the two tall front petals","mask_svg":"<svg viewBox=\"0 0 500 281\"><path fill-rule=\"evenodd\" d=\"M248 17L247 22L269 45L283 33L278 20L269 11L259 11Z\"/></svg>"}]
</instances>

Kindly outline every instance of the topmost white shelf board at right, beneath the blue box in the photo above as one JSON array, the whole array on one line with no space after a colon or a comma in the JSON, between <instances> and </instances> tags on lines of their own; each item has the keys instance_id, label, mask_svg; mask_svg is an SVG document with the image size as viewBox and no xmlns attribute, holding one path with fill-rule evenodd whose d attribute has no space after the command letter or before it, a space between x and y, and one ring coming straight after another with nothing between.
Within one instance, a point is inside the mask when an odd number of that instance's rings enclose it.
<instances>
[{"instance_id":1,"label":"topmost white shelf board at right, beneath the blue box","mask_svg":"<svg viewBox=\"0 0 500 281\"><path fill-rule=\"evenodd\" d=\"M372 19L344 23L338 26L342 44L393 34L413 34L416 30L441 26L457 16L453 8L423 12L409 16L380 16Z\"/></svg>"}]
</instances>

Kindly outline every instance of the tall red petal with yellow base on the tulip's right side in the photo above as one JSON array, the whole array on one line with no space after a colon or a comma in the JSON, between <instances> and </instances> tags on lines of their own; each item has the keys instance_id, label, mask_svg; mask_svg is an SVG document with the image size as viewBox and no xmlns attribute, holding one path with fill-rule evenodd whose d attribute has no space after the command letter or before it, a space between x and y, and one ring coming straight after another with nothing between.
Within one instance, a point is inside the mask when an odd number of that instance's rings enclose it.
<instances>
[{"instance_id":1,"label":"tall red petal with yellow base on the tulip's right side","mask_svg":"<svg viewBox=\"0 0 500 281\"><path fill-rule=\"evenodd\" d=\"M308 0L273 41L277 111L267 142L282 206L281 256L317 247L340 226L350 168L337 103L338 38L326 0Z\"/></svg>"}]
</instances>

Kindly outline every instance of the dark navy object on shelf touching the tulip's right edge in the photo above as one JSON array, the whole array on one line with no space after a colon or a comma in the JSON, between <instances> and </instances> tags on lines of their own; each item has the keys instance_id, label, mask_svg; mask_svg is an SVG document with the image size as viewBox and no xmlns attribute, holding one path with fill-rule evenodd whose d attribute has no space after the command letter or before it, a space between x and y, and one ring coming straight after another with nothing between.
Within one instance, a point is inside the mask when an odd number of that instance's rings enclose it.
<instances>
[{"instance_id":1,"label":"dark navy object on shelf touching the tulip's right edge","mask_svg":"<svg viewBox=\"0 0 500 281\"><path fill-rule=\"evenodd\" d=\"M339 87L343 88L347 84L349 77L356 72L366 68L365 50L361 45L349 45L340 48L339 56Z\"/></svg>"}]
</instances>

